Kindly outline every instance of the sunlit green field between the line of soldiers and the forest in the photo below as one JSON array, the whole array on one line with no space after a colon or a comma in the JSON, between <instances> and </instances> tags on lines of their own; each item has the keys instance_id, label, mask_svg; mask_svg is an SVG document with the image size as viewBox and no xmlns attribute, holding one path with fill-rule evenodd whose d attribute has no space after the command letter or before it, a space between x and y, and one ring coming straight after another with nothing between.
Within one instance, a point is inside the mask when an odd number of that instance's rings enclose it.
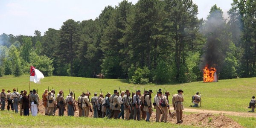
<instances>
[{"instance_id":1,"label":"sunlit green field between the line of soldiers and the forest","mask_svg":"<svg viewBox=\"0 0 256 128\"><path fill-rule=\"evenodd\" d=\"M246 79L228 79L220 80L219 82L203 83L192 82L185 84L129 84L123 79L91 79L91 78L81 78L81 77L67 77L67 76L52 76L45 77L41 80L41 84L35 84L31 82L30 90L38 89L39 94L44 93L44 89L52 89L52 87L58 93L58 90L63 89L64 94L67 95L70 90L75 90L76 98L82 93L89 90L92 94L94 92L100 93L100 89L105 94L107 92L113 93L113 90L122 91L129 89L131 92L135 90L153 90L153 95L156 94L156 90L159 88L165 88L171 94L176 94L178 89L184 90L184 105L185 108L191 103L192 95L195 95L197 91L201 91L202 95L202 108L196 109L207 109L207 110L217 110L217 111L238 111L246 112L248 111L248 102L253 95L255 95L253 88L256 86L256 78L246 78ZM0 78L0 88L6 90L12 90L18 87L20 90L29 90L29 76L13 77L4 76ZM169 97L171 100L171 97Z\"/></svg>"}]
</instances>

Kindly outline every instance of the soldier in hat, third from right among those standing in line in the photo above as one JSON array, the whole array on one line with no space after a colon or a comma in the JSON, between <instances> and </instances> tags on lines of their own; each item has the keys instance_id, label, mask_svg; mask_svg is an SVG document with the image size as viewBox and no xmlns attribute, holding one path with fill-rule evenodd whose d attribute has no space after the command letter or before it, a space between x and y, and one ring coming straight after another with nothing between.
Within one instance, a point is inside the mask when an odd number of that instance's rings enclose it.
<instances>
[{"instance_id":1,"label":"soldier in hat, third from right among those standing in line","mask_svg":"<svg viewBox=\"0 0 256 128\"><path fill-rule=\"evenodd\" d=\"M156 96L154 96L154 109L156 110L156 122L159 122L161 116L161 108L159 105L160 99L162 98L162 92L158 90Z\"/></svg>"}]
</instances>

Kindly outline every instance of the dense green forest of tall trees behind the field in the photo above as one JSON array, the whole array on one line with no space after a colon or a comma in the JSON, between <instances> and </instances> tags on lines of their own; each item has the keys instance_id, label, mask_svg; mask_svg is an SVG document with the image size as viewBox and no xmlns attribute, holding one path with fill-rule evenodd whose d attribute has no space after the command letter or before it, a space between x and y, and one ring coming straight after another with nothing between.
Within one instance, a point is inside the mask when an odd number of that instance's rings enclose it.
<instances>
[{"instance_id":1,"label":"dense green forest of tall trees behind the field","mask_svg":"<svg viewBox=\"0 0 256 128\"><path fill-rule=\"evenodd\" d=\"M192 0L123 0L95 20L68 19L44 35L0 35L0 76L129 79L134 84L202 81L203 68L218 79L256 76L256 1L233 0L225 19L212 5L198 19Z\"/></svg>"}]
</instances>

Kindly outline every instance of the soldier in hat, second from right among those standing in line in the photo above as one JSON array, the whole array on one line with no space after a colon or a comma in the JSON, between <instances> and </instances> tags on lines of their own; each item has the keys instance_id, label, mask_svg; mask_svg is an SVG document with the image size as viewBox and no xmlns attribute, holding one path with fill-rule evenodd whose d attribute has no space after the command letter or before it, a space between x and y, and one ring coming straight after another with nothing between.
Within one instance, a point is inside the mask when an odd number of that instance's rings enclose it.
<instances>
[{"instance_id":1,"label":"soldier in hat, second from right among those standing in line","mask_svg":"<svg viewBox=\"0 0 256 128\"><path fill-rule=\"evenodd\" d=\"M165 95L163 95L162 98L160 99L161 102L163 102L162 103L163 105L161 105L161 111L163 113L161 122L167 122L168 109L170 108L168 96L170 96L170 93L165 92Z\"/></svg>"}]
</instances>

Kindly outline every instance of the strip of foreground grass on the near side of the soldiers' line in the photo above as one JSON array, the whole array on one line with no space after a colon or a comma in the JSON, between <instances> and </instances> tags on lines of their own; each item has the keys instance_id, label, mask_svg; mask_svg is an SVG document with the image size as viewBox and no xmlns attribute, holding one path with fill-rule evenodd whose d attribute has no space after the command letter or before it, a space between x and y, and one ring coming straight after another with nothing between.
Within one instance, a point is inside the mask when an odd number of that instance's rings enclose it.
<instances>
[{"instance_id":1,"label":"strip of foreground grass on the near side of the soldiers' line","mask_svg":"<svg viewBox=\"0 0 256 128\"><path fill-rule=\"evenodd\" d=\"M180 125L172 123L157 123L134 120L119 119L102 119L102 118L85 118L85 117L70 117L70 116L20 116L9 111L0 111L0 126L1 127L77 127L77 128L179 128ZM192 126L182 125L182 128L193 128Z\"/></svg>"}]
</instances>

